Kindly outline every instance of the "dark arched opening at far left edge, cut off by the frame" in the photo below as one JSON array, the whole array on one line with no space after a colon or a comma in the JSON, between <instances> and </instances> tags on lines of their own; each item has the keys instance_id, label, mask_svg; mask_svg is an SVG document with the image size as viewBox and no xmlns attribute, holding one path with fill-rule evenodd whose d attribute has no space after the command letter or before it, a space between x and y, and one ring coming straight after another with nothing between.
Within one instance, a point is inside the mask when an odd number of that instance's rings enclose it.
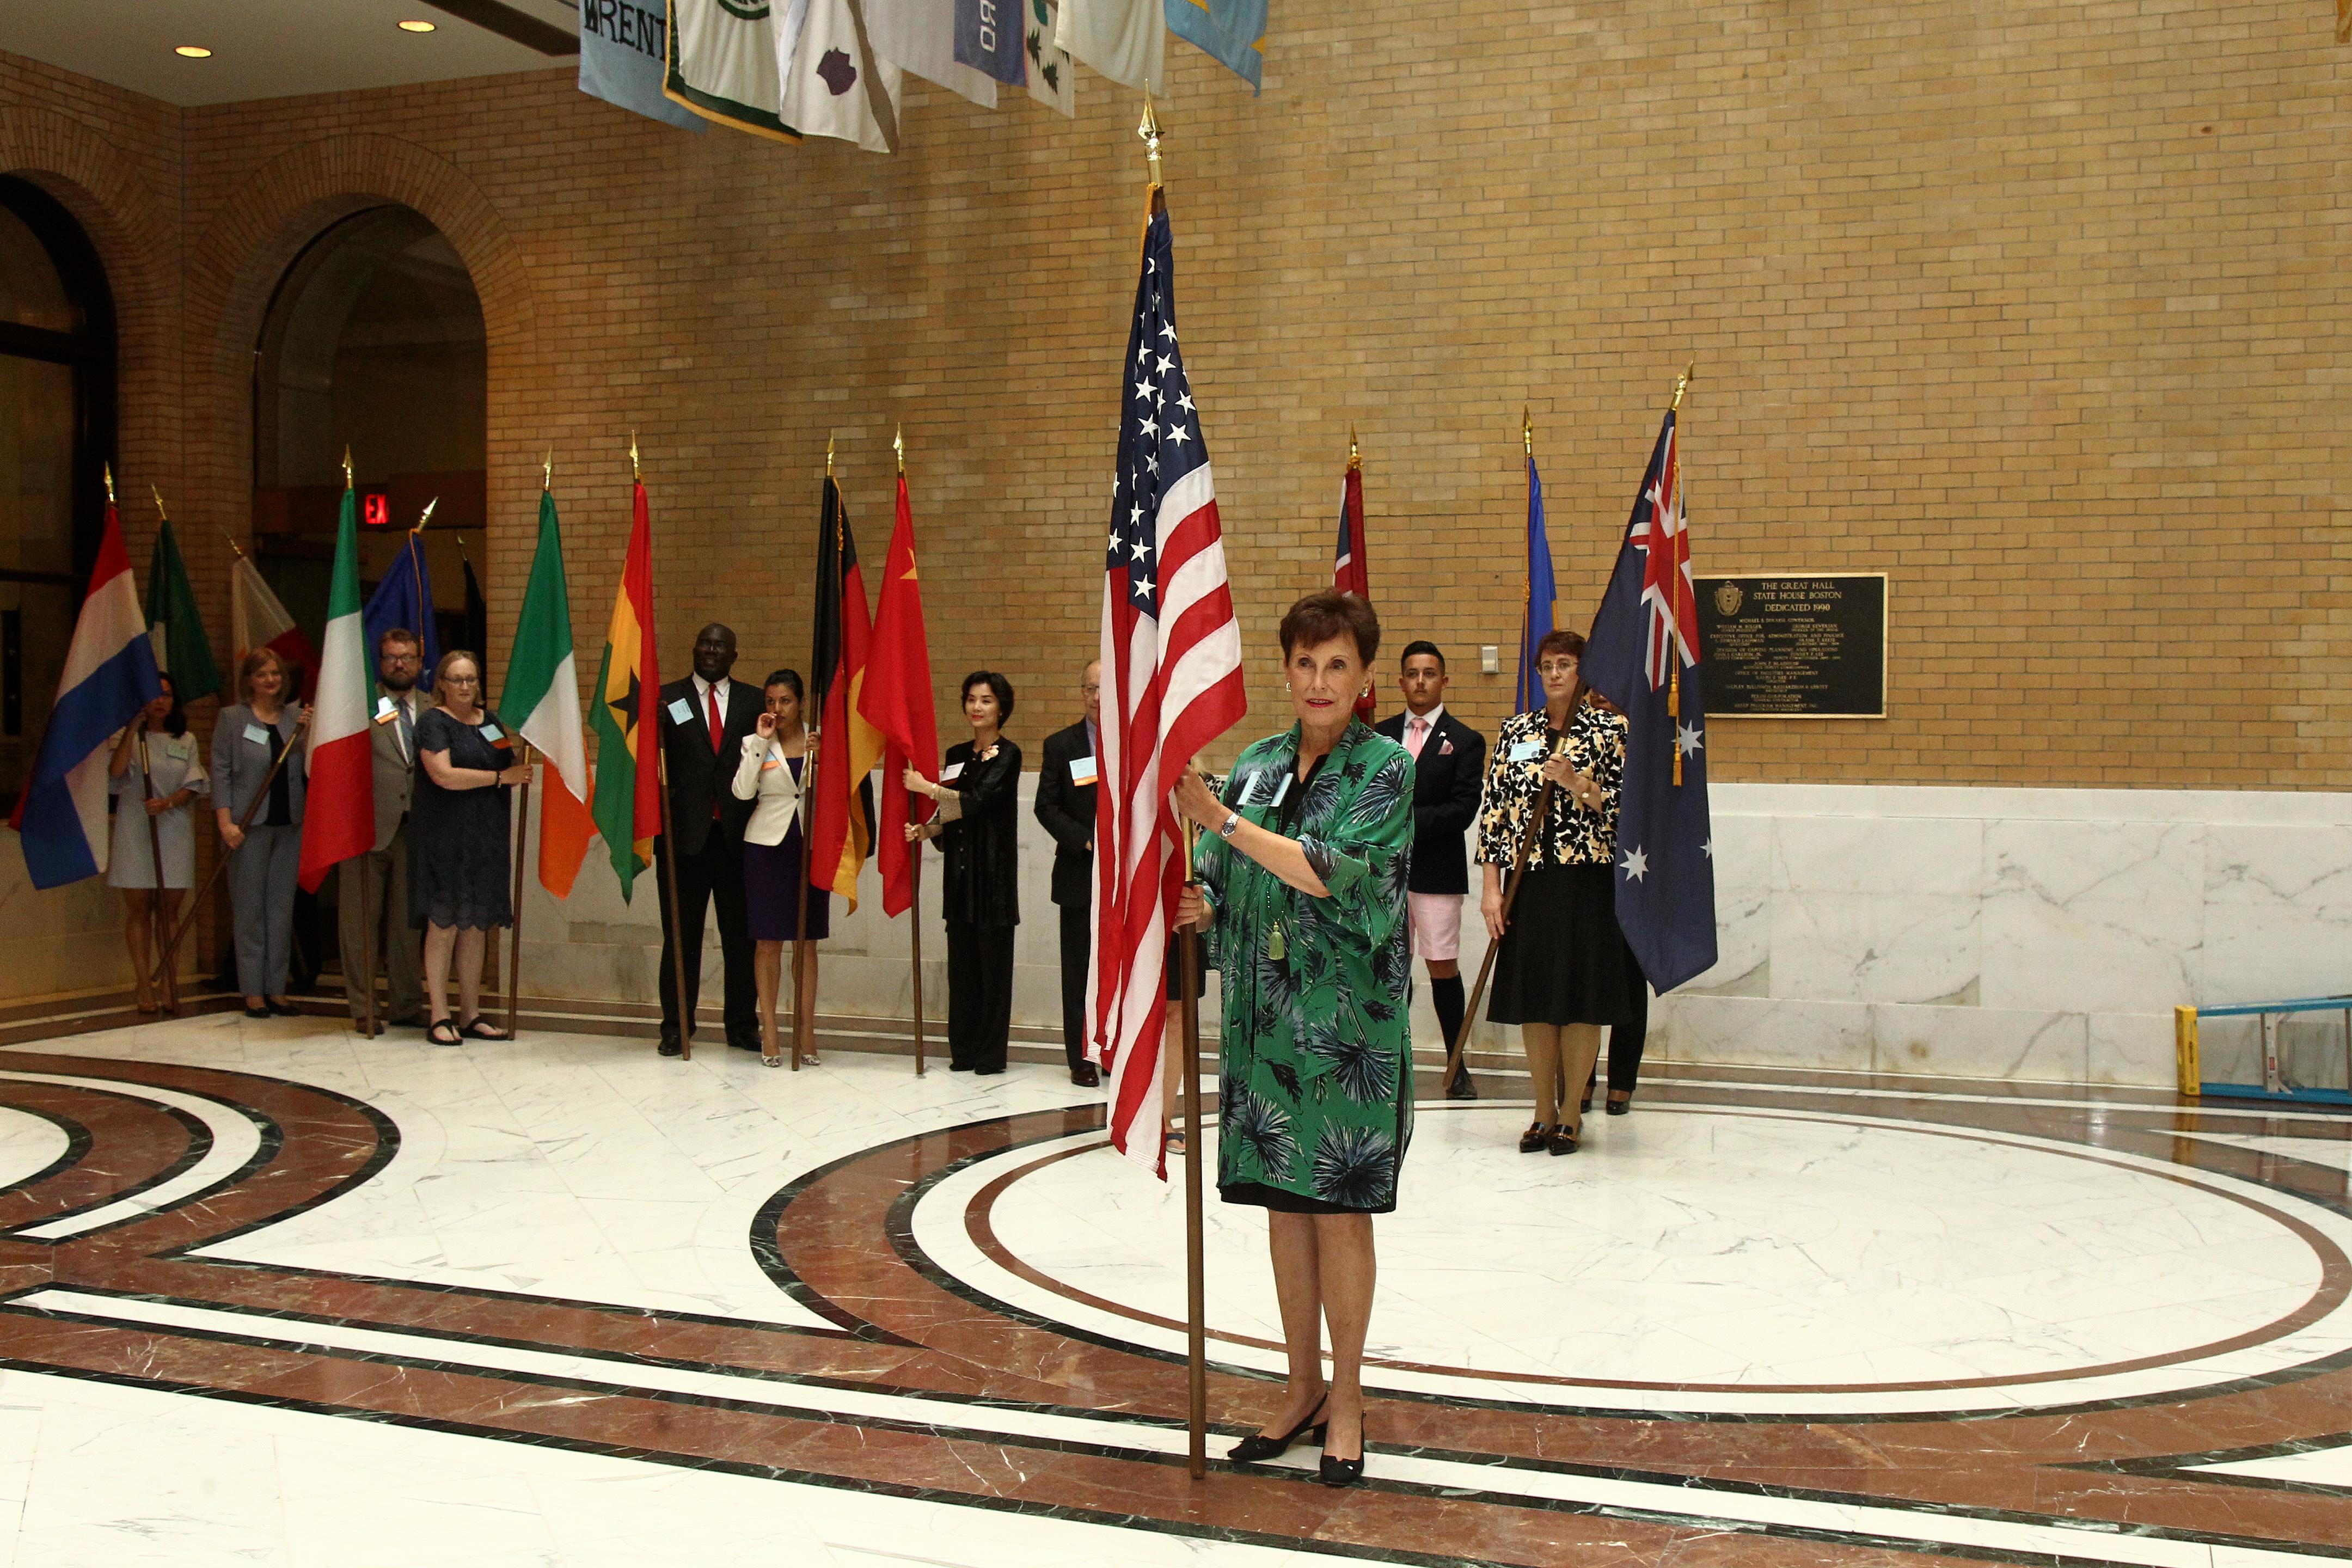
<instances>
[{"instance_id":1,"label":"dark arched opening at far left edge, cut off by the frame","mask_svg":"<svg viewBox=\"0 0 2352 1568\"><path fill-rule=\"evenodd\" d=\"M106 527L115 303L56 197L0 179L0 809L56 698Z\"/></svg>"}]
</instances>

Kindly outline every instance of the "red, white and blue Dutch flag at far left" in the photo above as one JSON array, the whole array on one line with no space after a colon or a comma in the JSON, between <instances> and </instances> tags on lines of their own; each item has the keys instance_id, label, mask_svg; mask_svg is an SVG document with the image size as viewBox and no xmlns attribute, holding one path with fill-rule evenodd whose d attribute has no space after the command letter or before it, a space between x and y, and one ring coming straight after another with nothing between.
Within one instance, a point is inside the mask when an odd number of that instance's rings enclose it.
<instances>
[{"instance_id":1,"label":"red, white and blue Dutch flag at far left","mask_svg":"<svg viewBox=\"0 0 2352 1568\"><path fill-rule=\"evenodd\" d=\"M158 696L155 644L148 642L132 557L122 548L122 520L108 501L99 564L89 571L89 595L73 623L56 705L16 811L7 818L21 835L33 886L64 886L106 870L106 743Z\"/></svg>"}]
</instances>

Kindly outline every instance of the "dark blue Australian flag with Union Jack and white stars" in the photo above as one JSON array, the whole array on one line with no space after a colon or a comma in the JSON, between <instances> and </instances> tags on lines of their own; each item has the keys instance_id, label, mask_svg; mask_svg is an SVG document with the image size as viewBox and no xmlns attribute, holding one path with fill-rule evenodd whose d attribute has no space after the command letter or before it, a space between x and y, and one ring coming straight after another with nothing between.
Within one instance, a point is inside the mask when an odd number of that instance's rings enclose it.
<instances>
[{"instance_id":1,"label":"dark blue Australian flag with Union Jack and white stars","mask_svg":"<svg viewBox=\"0 0 2352 1568\"><path fill-rule=\"evenodd\" d=\"M1592 616L1583 677L1625 710L1630 726L1616 912L1651 990L1665 994L1715 969L1708 701L1672 414L1658 428L1609 592Z\"/></svg>"}]
</instances>

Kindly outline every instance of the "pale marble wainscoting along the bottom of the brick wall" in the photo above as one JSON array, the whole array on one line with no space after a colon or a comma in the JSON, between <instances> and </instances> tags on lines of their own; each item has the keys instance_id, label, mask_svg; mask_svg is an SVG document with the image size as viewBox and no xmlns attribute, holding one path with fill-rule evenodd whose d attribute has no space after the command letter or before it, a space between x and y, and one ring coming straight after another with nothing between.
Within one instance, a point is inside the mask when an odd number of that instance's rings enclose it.
<instances>
[{"instance_id":1,"label":"pale marble wainscoting along the bottom of the brick wall","mask_svg":"<svg viewBox=\"0 0 2352 1568\"><path fill-rule=\"evenodd\" d=\"M1056 1030L1054 844L1021 780L1014 1023ZM2058 1084L2173 1081L2171 1009L2352 990L2352 795L1715 785L1722 961L1665 997L1658 1060ZM946 1018L938 856L924 856L924 1011ZM833 912L821 1006L908 1018L908 926ZM524 910L529 990L649 1001L656 889L597 858ZM1475 903L1463 971L1486 952ZM1418 971L1418 964L1416 964ZM717 931L703 997L717 999ZM1209 1018L1214 1027L1214 997ZM1428 987L1414 1037L1442 1048ZM1515 1063L1515 1030L1475 1048Z\"/></svg>"}]
</instances>

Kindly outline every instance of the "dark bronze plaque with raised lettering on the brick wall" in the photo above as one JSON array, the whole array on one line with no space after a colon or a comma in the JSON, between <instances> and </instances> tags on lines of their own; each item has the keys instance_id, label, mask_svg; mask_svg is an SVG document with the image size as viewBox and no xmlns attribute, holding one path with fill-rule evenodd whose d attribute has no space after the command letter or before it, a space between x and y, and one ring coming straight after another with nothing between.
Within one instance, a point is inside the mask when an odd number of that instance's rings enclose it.
<instances>
[{"instance_id":1,"label":"dark bronze plaque with raised lettering on the brick wall","mask_svg":"<svg viewBox=\"0 0 2352 1568\"><path fill-rule=\"evenodd\" d=\"M1710 719L1884 719L1886 574L1703 576Z\"/></svg>"}]
</instances>

